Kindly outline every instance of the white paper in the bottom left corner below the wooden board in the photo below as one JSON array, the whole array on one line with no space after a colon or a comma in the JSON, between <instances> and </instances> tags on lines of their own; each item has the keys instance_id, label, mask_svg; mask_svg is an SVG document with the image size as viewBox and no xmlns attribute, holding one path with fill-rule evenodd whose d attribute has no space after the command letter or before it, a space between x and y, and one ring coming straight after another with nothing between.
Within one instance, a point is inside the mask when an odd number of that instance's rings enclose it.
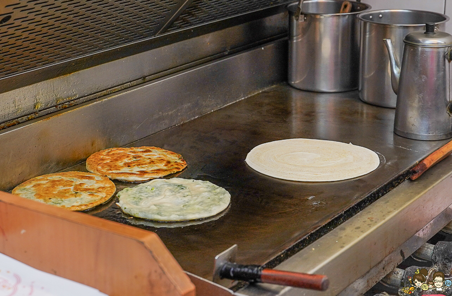
<instances>
[{"instance_id":1,"label":"white paper in the bottom left corner below the wooden board","mask_svg":"<svg viewBox=\"0 0 452 296\"><path fill-rule=\"evenodd\" d=\"M106 296L90 286L35 269L0 253L0 296Z\"/></svg>"}]
</instances>

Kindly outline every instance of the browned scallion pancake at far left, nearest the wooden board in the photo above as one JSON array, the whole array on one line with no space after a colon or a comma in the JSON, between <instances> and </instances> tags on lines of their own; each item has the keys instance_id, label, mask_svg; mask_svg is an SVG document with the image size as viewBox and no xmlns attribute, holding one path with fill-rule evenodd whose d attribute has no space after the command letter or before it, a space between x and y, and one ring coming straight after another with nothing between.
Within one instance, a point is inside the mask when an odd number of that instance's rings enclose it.
<instances>
[{"instance_id":1,"label":"browned scallion pancake at far left, nearest the wooden board","mask_svg":"<svg viewBox=\"0 0 452 296\"><path fill-rule=\"evenodd\" d=\"M115 184L105 176L62 172L32 178L12 193L71 211L83 211L105 203L115 191Z\"/></svg>"}]
</instances>

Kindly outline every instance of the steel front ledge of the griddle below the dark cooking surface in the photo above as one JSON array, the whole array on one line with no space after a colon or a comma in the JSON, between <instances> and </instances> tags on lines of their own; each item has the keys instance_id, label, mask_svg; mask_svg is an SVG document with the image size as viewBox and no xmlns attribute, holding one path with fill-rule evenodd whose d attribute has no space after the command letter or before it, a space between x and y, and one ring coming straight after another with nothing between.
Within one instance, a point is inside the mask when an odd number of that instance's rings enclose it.
<instances>
[{"instance_id":1,"label":"steel front ledge of the griddle below the dark cooking surface","mask_svg":"<svg viewBox=\"0 0 452 296\"><path fill-rule=\"evenodd\" d=\"M405 181L275 267L325 274L330 279L328 290L255 284L238 292L249 296L332 296L341 291L341 296L360 295L367 281L375 283L389 273L452 219L451 185L452 157L447 157L421 178Z\"/></svg>"}]
</instances>

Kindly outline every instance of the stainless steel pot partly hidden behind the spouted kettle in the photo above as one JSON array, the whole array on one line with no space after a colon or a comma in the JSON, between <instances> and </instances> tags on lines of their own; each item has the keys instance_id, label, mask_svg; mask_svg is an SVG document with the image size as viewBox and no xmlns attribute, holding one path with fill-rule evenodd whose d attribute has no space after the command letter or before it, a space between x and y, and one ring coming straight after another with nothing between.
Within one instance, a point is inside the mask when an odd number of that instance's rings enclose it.
<instances>
[{"instance_id":1,"label":"stainless steel pot partly hidden behind the spouted kettle","mask_svg":"<svg viewBox=\"0 0 452 296\"><path fill-rule=\"evenodd\" d=\"M425 23L436 23L445 30L445 15L415 10L379 10L358 15L361 20L360 98L366 103L395 108L397 95L391 88L389 56L383 39L391 39L394 51L402 57L403 38L425 30Z\"/></svg>"}]
</instances>

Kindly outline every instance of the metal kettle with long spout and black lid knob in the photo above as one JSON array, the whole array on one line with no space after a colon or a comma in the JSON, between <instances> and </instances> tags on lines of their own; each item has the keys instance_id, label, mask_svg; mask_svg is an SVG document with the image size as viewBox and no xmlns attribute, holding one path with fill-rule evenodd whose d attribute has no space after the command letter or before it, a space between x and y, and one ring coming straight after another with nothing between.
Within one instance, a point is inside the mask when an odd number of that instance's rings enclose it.
<instances>
[{"instance_id":1,"label":"metal kettle with long spout and black lid knob","mask_svg":"<svg viewBox=\"0 0 452 296\"><path fill-rule=\"evenodd\" d=\"M447 139L452 137L452 36L435 32L435 23L427 23L425 28L425 32L412 32L403 39L401 68L391 39L384 39L397 94L394 132L416 140Z\"/></svg>"}]
</instances>

